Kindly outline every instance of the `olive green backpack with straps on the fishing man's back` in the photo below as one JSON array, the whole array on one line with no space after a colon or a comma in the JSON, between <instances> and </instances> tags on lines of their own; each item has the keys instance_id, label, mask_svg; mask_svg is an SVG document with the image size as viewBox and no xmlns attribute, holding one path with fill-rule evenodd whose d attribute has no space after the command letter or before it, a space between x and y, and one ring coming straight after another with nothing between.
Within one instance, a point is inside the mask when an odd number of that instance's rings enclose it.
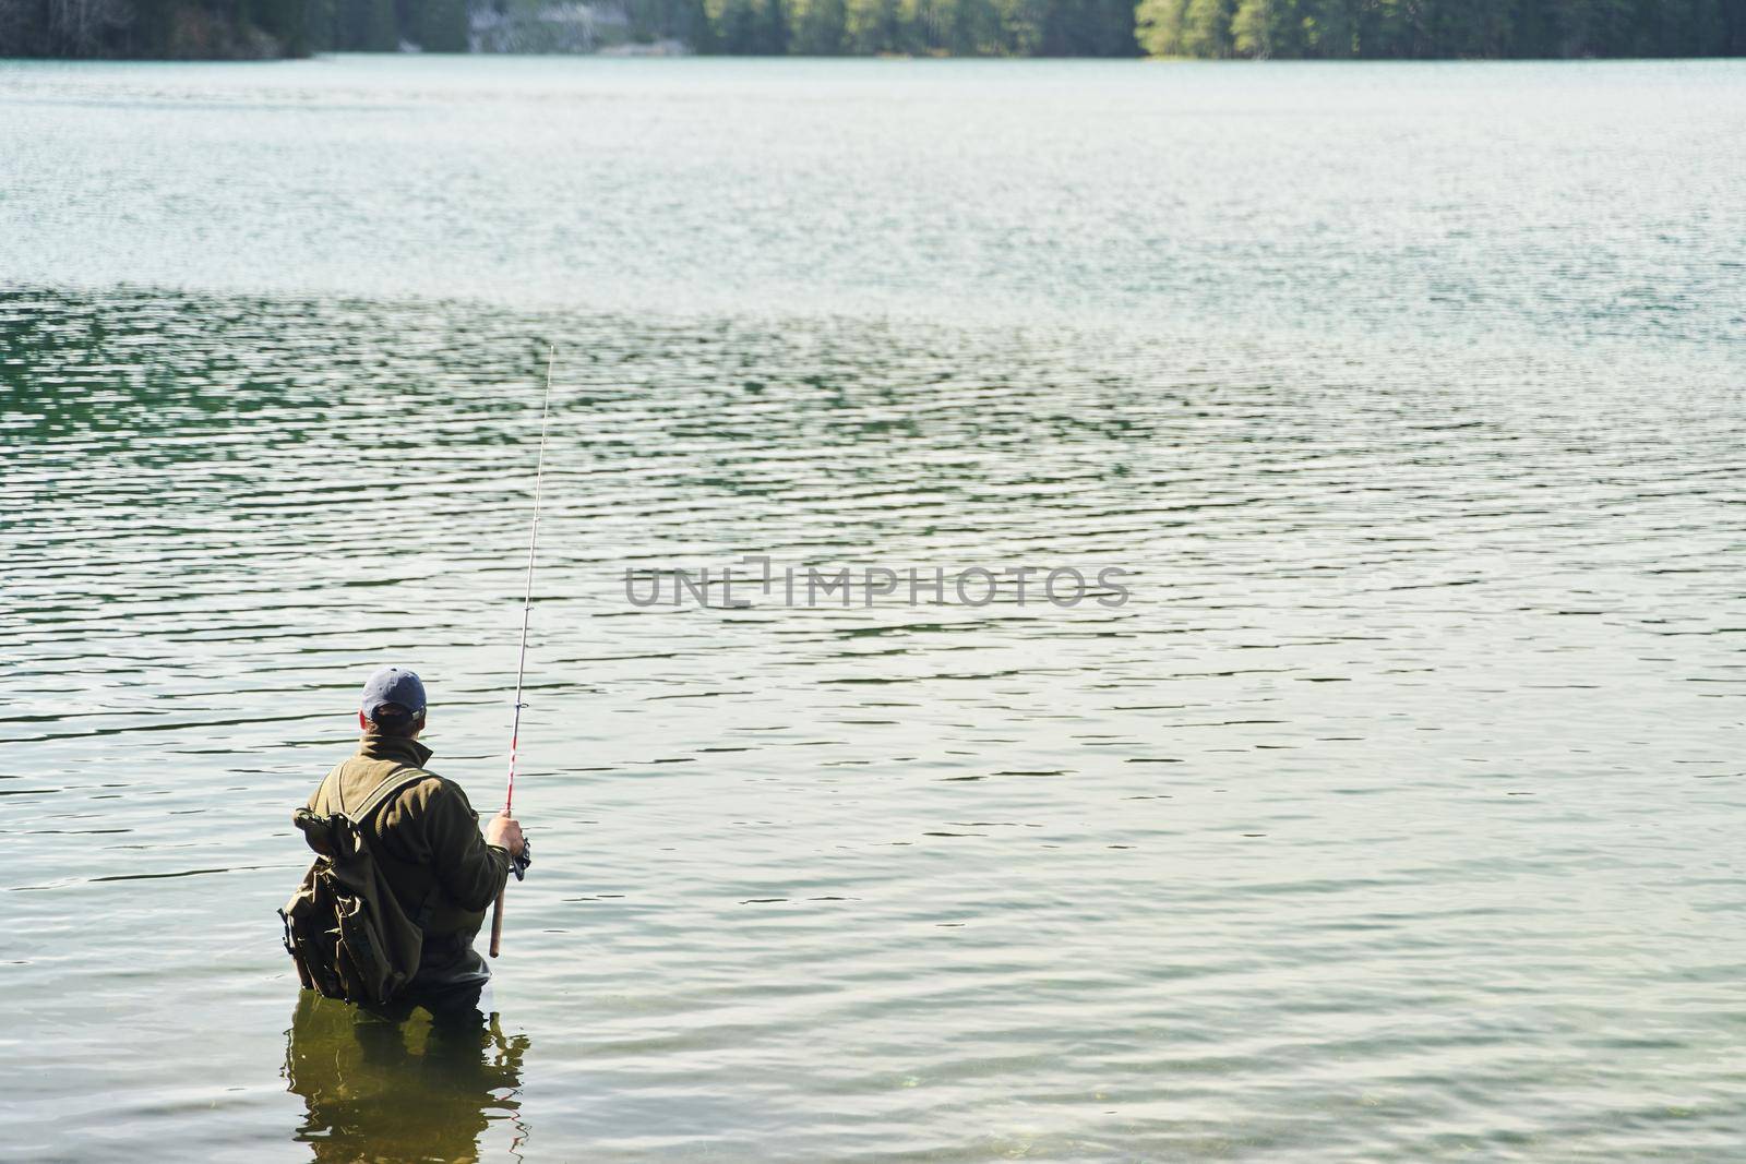
<instances>
[{"instance_id":1,"label":"olive green backpack with straps on the fishing man's back","mask_svg":"<svg viewBox=\"0 0 1746 1164\"><path fill-rule=\"evenodd\" d=\"M339 811L299 808L292 817L316 852L302 885L279 911L285 949L306 988L379 1007L417 972L424 930L402 909L372 857L368 825L384 801L428 775L396 768L354 811L346 811L340 799ZM337 794L337 780L335 768L323 791L332 785ZM316 796L316 805L327 808L328 801Z\"/></svg>"}]
</instances>

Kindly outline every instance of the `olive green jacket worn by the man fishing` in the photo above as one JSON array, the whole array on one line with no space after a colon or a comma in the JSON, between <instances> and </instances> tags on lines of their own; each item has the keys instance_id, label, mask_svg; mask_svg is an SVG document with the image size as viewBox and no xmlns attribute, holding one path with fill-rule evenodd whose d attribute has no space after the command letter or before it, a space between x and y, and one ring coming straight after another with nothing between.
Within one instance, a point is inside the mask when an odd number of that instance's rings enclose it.
<instances>
[{"instance_id":1,"label":"olive green jacket worn by the man fishing","mask_svg":"<svg viewBox=\"0 0 1746 1164\"><path fill-rule=\"evenodd\" d=\"M430 757L417 740L365 733L358 754L335 766L309 798L309 810L325 815L358 806L396 770L423 770ZM424 930L423 965L470 951L485 909L510 876L510 852L485 845L461 785L426 771L388 798L365 839L400 907Z\"/></svg>"}]
</instances>

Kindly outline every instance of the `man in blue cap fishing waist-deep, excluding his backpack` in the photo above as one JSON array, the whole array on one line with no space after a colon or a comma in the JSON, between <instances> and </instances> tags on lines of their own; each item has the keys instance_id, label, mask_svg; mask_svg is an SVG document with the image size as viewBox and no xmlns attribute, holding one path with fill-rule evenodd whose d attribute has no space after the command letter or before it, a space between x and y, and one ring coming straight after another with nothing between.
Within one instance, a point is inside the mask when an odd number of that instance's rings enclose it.
<instances>
[{"instance_id":1,"label":"man in blue cap fishing waist-deep, excluding his backpack","mask_svg":"<svg viewBox=\"0 0 1746 1164\"><path fill-rule=\"evenodd\" d=\"M417 972L402 1003L438 1017L473 1014L491 969L473 949L485 909L524 857L520 824L508 811L491 817L484 836L466 792L424 768L424 684L405 667L384 667L363 684L358 754L339 764L309 798L309 810L332 813L363 805L384 782L423 773L367 817L365 839L395 899L424 932Z\"/></svg>"}]
</instances>

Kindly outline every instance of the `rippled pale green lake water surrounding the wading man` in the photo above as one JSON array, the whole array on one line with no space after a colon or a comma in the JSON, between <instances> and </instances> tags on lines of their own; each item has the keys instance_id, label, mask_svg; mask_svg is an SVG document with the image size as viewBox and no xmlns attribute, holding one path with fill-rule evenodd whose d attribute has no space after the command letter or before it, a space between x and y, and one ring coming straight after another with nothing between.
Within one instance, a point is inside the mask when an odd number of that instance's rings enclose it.
<instances>
[{"instance_id":1,"label":"rippled pale green lake water surrounding the wading man","mask_svg":"<svg viewBox=\"0 0 1746 1164\"><path fill-rule=\"evenodd\" d=\"M1746 1159L1743 127L0 65L0 1155ZM501 796L548 342L499 1017L356 1024L290 811L388 660ZM627 593L742 555L1130 600Z\"/></svg>"}]
</instances>

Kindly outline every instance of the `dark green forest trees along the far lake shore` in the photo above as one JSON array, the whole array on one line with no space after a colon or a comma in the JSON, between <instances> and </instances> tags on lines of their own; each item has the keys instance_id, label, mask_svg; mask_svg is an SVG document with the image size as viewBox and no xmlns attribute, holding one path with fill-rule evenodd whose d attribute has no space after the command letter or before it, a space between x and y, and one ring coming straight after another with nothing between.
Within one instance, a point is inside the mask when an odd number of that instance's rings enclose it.
<instances>
[{"instance_id":1,"label":"dark green forest trees along the far lake shore","mask_svg":"<svg viewBox=\"0 0 1746 1164\"><path fill-rule=\"evenodd\" d=\"M569 19L566 9L578 5L0 0L0 56L464 52L478 19ZM1746 56L1746 0L604 0L588 21L630 44L739 56Z\"/></svg>"}]
</instances>

